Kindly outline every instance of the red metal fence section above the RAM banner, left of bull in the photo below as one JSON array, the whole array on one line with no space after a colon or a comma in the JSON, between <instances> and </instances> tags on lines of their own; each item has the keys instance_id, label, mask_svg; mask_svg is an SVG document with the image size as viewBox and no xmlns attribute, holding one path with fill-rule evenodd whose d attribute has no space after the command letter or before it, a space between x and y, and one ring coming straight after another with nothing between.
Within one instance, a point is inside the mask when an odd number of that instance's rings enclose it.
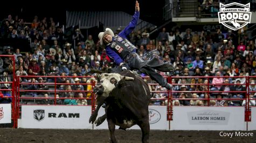
<instances>
[{"instance_id":1,"label":"red metal fence section above the RAM banner, left of bull","mask_svg":"<svg viewBox=\"0 0 256 143\"><path fill-rule=\"evenodd\" d=\"M38 78L52 78L54 79L53 82L20 82L20 78L34 78L34 79L38 79ZM57 105L57 100L65 100L65 99L73 99L73 100L77 100L77 99L86 99L86 100L90 100L90 103L92 106L92 112L95 110L95 97L94 97L94 93L93 93L93 88L95 86L95 82L91 82L91 83L58 83L57 79L60 78L92 78L92 77L85 77L85 76L17 76L16 80L17 80L17 104L16 104L16 114L17 114L17 118L16 120L20 117L21 111L20 111L20 107L24 104L24 102L20 102L23 100L31 100L31 101L35 101L35 100L41 100L41 99L47 99L47 100L53 100L54 101L54 105ZM26 89L24 88L24 86L27 85L50 85L53 88L49 88L49 89ZM58 86L66 86L66 85L89 85L92 86L91 90L87 91L67 91L66 89L64 90L59 90ZM49 97L42 97L42 96L22 96L21 93L28 93L28 92L37 92L39 93L39 95L41 95L40 93L53 93L53 96L49 96ZM57 94L61 94L61 93L65 93L65 92L72 92L72 93L78 93L78 92L82 92L82 93L91 93L91 97L58 97L57 98ZM37 104L37 102L29 102L29 104ZM43 104L42 104L43 105ZM59 105L58 105L59 106ZM17 122L16 122L17 123ZM17 124L15 125L17 127Z\"/></svg>"}]
</instances>

